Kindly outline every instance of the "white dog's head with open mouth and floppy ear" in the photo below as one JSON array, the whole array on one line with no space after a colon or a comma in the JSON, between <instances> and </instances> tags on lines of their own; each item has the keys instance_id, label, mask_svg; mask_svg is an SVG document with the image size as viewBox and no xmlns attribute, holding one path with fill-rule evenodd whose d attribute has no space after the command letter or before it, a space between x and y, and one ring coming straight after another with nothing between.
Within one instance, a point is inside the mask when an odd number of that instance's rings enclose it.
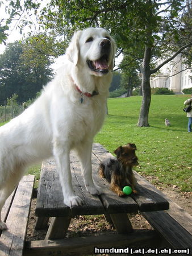
<instances>
[{"instance_id":1,"label":"white dog's head with open mouth and floppy ear","mask_svg":"<svg viewBox=\"0 0 192 256\"><path fill-rule=\"evenodd\" d=\"M103 76L113 68L115 42L105 29L87 28L74 34L66 55L90 75Z\"/></svg>"}]
</instances>

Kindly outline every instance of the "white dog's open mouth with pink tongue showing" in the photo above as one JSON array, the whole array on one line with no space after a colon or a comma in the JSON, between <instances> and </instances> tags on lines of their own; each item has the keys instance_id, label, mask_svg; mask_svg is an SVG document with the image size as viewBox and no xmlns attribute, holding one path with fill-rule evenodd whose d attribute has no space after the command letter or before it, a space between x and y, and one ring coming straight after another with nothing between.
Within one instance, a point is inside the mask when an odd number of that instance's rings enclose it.
<instances>
[{"instance_id":1,"label":"white dog's open mouth with pink tongue showing","mask_svg":"<svg viewBox=\"0 0 192 256\"><path fill-rule=\"evenodd\" d=\"M108 72L108 56L103 55L100 59L92 61L87 60L87 64L91 71L94 72L101 72L101 73L107 73Z\"/></svg>"}]
</instances>

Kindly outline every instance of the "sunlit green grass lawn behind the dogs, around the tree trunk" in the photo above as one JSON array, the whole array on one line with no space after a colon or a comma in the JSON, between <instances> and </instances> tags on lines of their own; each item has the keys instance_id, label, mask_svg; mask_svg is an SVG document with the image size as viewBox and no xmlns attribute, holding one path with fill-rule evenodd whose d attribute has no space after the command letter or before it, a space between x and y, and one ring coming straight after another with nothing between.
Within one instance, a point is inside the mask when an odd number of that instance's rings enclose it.
<instances>
[{"instance_id":1,"label":"sunlit green grass lawn behind the dogs, around the tree trunk","mask_svg":"<svg viewBox=\"0 0 192 256\"><path fill-rule=\"evenodd\" d=\"M137 146L139 166L135 168L159 186L177 185L191 191L191 133L183 102L189 96L154 95L149 112L150 127L137 127L141 96L108 99L108 115L102 130L95 137L111 153L128 142ZM171 126L165 127L168 118ZM1 124L0 124L1 126ZM40 166L29 169L39 180Z\"/></svg>"}]
</instances>

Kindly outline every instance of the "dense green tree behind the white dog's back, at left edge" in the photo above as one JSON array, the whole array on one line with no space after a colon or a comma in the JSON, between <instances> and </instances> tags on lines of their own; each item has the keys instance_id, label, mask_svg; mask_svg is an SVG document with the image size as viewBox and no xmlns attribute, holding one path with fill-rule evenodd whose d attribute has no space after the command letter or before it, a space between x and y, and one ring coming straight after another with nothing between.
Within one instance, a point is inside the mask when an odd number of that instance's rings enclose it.
<instances>
[{"instance_id":1,"label":"dense green tree behind the white dog's back, at left edge","mask_svg":"<svg viewBox=\"0 0 192 256\"><path fill-rule=\"evenodd\" d=\"M34 98L43 85L52 77L49 67L52 60L41 54L41 35L28 38L24 42L10 43L0 55L0 100L18 94L19 102ZM39 41L38 41L38 40Z\"/></svg>"}]
</instances>

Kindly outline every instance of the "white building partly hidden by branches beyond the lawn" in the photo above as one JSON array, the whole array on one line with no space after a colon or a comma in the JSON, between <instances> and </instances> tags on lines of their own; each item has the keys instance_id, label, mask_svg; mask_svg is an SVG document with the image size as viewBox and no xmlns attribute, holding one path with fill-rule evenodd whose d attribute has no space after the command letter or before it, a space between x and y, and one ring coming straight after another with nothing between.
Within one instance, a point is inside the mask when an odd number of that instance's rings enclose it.
<instances>
[{"instance_id":1,"label":"white building partly hidden by branches beyond the lawn","mask_svg":"<svg viewBox=\"0 0 192 256\"><path fill-rule=\"evenodd\" d=\"M165 87L173 90L173 92L182 92L184 88L192 87L190 78L192 73L190 69L182 71L185 69L181 55L177 55L172 61L160 68L160 73L157 73L155 77L151 77L151 88Z\"/></svg>"}]
</instances>

